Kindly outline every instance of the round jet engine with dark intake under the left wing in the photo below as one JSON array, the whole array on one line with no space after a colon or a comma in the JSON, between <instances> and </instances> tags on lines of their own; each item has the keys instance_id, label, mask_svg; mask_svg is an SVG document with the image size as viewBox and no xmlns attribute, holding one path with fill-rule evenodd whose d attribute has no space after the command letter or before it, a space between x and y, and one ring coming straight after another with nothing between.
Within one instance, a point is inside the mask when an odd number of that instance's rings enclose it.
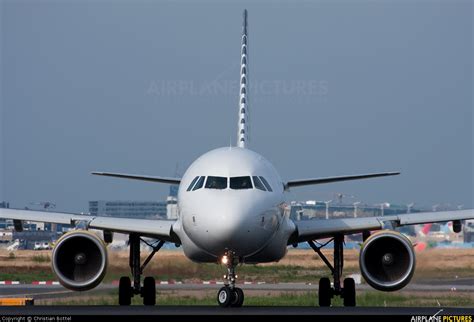
<instances>
[{"instance_id":1,"label":"round jet engine with dark intake under the left wing","mask_svg":"<svg viewBox=\"0 0 474 322\"><path fill-rule=\"evenodd\" d=\"M87 291L99 285L105 276L107 249L104 242L91 232L69 232L56 242L52 265L64 287Z\"/></svg>"}]
</instances>

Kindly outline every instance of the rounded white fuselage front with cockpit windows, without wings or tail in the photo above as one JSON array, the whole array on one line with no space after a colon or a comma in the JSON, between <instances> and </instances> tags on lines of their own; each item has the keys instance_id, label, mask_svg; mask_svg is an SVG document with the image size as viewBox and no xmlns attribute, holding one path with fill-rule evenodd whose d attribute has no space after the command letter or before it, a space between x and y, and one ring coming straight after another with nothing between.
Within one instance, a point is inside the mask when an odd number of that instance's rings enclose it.
<instances>
[{"instance_id":1,"label":"rounded white fuselage front with cockpit windows, without wings or tail","mask_svg":"<svg viewBox=\"0 0 474 322\"><path fill-rule=\"evenodd\" d=\"M283 192L272 164L251 150L225 147L202 155L187 169L178 192L179 219L173 229L186 256L215 262L232 251L247 263L279 260L294 231Z\"/></svg>"}]
</instances>

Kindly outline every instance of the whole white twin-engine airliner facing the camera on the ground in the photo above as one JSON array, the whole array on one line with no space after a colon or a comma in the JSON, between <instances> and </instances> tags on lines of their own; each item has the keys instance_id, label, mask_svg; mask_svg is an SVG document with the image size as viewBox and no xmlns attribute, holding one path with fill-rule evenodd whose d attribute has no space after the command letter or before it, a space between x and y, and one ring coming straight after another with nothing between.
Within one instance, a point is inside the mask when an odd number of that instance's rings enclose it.
<instances>
[{"instance_id":1,"label":"whole white twin-engine airliner facing the camera on the ground","mask_svg":"<svg viewBox=\"0 0 474 322\"><path fill-rule=\"evenodd\" d=\"M106 245L111 243L113 232L119 232L129 235L132 275L132 280L129 277L120 279L120 305L129 305L134 295L143 297L145 305L155 304L155 280L145 277L141 283L141 276L153 255L165 242L170 242L182 245L184 254L195 262L226 265L225 286L218 291L217 302L223 307L240 307L244 294L235 286L237 264L278 261L285 256L289 245L306 242L326 263L333 276L333 286L329 278L319 281L319 305L330 306L334 296L341 296L344 305L354 306L354 280L341 280L345 235L363 234L360 269L366 282L378 290L394 291L410 281L415 269L413 245L405 236L394 231L394 227L452 221L453 230L460 232L461 220L474 218L473 210L462 210L370 218L291 220L288 212L284 211L284 193L291 188L399 173L283 181L270 162L248 149L246 10L243 18L237 145L203 154L191 164L182 178L93 172L95 175L179 185L178 219L145 220L0 209L0 218L13 219L17 230L22 229L22 221L72 224L75 227L64 234L53 249L53 270L63 286L76 291L97 286L107 269ZM103 235L99 236L89 229L102 230ZM377 232L371 234L373 231ZM153 238L156 242L150 244L142 237ZM315 243L318 238L333 241L333 263L320 251L325 245ZM140 261L141 242L153 247L153 252L144 263Z\"/></svg>"}]
</instances>

